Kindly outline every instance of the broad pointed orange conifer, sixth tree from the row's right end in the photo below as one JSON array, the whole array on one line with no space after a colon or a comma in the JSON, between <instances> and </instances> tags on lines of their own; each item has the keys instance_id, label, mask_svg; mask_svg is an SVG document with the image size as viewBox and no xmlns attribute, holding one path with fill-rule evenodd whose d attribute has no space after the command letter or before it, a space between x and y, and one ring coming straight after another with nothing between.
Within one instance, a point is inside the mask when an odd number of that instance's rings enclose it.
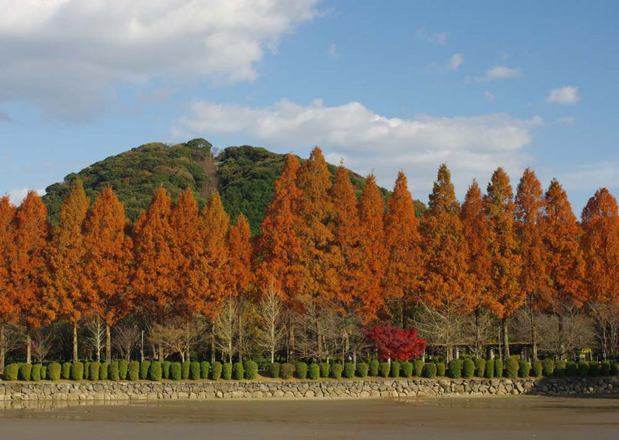
<instances>
[{"instance_id":1,"label":"broad pointed orange conifer, sixth tree from the row's right end","mask_svg":"<svg viewBox=\"0 0 619 440\"><path fill-rule=\"evenodd\" d=\"M441 331L437 336L446 348L449 361L457 332L456 318L473 311L477 298L471 295L468 246L459 218L459 203L445 164L439 167L421 230L420 302L426 313L433 315L430 321L439 322Z\"/></svg>"}]
</instances>

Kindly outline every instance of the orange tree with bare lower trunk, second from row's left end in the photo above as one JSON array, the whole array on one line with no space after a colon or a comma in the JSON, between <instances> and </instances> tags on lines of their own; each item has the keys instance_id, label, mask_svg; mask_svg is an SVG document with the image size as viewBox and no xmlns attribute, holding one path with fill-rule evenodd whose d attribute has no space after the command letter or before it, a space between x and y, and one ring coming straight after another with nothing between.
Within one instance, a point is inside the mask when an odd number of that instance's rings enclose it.
<instances>
[{"instance_id":1,"label":"orange tree with bare lower trunk, second from row's left end","mask_svg":"<svg viewBox=\"0 0 619 440\"><path fill-rule=\"evenodd\" d=\"M50 236L47 209L34 191L28 191L16 214L15 253L11 262L12 289L17 295L20 322L26 326L26 362L30 363L30 331L56 317L57 304L45 289L47 273L45 247Z\"/></svg>"}]
</instances>

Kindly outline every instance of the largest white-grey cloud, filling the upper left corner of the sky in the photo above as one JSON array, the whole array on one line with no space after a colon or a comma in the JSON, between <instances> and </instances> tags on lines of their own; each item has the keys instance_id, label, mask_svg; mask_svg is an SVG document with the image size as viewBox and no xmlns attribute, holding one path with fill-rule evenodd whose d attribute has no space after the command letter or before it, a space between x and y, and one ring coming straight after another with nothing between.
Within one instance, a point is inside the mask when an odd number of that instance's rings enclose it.
<instances>
[{"instance_id":1,"label":"largest white-grey cloud, filling the upper left corner of the sky","mask_svg":"<svg viewBox=\"0 0 619 440\"><path fill-rule=\"evenodd\" d=\"M318 1L1 1L0 101L83 118L116 83L251 81L265 50L316 17Z\"/></svg>"}]
</instances>

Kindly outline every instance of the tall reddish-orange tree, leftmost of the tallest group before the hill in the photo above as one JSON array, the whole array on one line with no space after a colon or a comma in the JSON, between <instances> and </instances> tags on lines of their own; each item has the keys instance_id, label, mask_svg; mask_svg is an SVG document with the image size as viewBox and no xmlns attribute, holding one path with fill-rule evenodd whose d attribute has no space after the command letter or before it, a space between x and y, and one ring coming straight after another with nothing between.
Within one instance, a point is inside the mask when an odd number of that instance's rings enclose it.
<instances>
[{"instance_id":1,"label":"tall reddish-orange tree, leftmost of the tallest group before the hill","mask_svg":"<svg viewBox=\"0 0 619 440\"><path fill-rule=\"evenodd\" d=\"M273 200L265 211L257 246L259 284L273 283L287 304L296 302L298 286L301 239L297 207L301 193L296 186L296 173L300 167L296 156L286 156L282 174L274 184Z\"/></svg>"}]
</instances>

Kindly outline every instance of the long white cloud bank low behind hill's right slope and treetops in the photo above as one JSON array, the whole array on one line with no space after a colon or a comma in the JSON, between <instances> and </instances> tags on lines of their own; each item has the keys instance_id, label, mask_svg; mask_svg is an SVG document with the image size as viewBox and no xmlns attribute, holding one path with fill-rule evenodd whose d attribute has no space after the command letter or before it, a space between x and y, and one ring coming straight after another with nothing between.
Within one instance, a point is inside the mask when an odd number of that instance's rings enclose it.
<instances>
[{"instance_id":1,"label":"long white cloud bank low behind hill's right slope and treetops","mask_svg":"<svg viewBox=\"0 0 619 440\"><path fill-rule=\"evenodd\" d=\"M530 130L541 124L539 116L521 120L508 114L387 117L358 102L328 107L321 100L309 105L282 100L268 107L247 107L198 101L177 121L173 136L229 134L243 143L299 154L319 145L331 163L344 158L360 173L375 169L387 187L398 169L404 169L411 189L425 198L442 162L454 171L461 191L473 177L489 178L499 165L521 172L530 161L523 152L532 140Z\"/></svg>"}]
</instances>

